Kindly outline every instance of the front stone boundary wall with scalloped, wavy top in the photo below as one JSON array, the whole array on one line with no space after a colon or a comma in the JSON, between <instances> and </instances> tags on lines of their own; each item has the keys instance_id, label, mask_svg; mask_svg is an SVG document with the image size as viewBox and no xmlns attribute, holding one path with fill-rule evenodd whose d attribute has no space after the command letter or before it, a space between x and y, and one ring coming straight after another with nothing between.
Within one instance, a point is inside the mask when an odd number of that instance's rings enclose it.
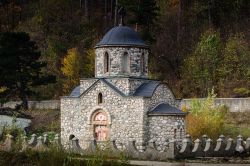
<instances>
[{"instance_id":1,"label":"front stone boundary wall with scalloped, wavy top","mask_svg":"<svg viewBox=\"0 0 250 166\"><path fill-rule=\"evenodd\" d=\"M11 151L14 148L15 138L12 135L6 135L4 142L0 142L0 151ZM28 149L36 151L46 151L51 146L66 148L68 152L78 153L81 155L95 155L97 152L102 150L109 151L110 157L117 157L121 153L131 159L139 160L162 160L167 159L201 159L201 158L229 158L229 157L240 157L247 158L250 156L250 137L245 140L241 135L236 140L232 138L226 139L225 136L221 135L217 140L211 140L207 135L203 135L201 139L192 140L190 135L186 135L182 140L169 140L164 143L164 149L159 151L155 145L155 142L147 142L145 150L138 150L135 146L136 140L128 140L124 144L123 149L117 148L116 140L111 140L105 144L105 147L100 147L98 142L90 140L89 145L86 149L82 149L79 145L79 139L73 137L68 140L68 146L62 147L60 142L60 136L55 135L52 141L49 141L48 135L37 137L33 134L30 140L26 136L22 138L22 146L19 151L26 151Z\"/></svg>"}]
</instances>

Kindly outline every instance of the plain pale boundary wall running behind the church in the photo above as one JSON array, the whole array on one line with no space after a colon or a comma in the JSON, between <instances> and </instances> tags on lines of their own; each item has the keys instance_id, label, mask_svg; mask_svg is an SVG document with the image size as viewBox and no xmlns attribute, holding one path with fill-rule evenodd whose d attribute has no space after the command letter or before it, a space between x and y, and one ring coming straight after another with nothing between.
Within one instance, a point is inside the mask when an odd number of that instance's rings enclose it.
<instances>
[{"instance_id":1,"label":"plain pale boundary wall running behind the church","mask_svg":"<svg viewBox=\"0 0 250 166\"><path fill-rule=\"evenodd\" d=\"M198 98L202 100L202 98ZM189 107L193 99L177 99L179 108ZM216 98L217 105L226 105L230 112L250 112L250 98ZM15 108L20 101L10 101L4 107ZM60 109L60 100L29 101L30 109Z\"/></svg>"}]
</instances>

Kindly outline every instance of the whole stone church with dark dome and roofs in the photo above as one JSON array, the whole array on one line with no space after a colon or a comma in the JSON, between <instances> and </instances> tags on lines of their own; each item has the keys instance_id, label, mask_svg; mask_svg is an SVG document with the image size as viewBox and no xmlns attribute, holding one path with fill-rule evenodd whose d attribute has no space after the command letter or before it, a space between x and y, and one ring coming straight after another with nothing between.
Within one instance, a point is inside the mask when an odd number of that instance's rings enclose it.
<instances>
[{"instance_id":1,"label":"whole stone church with dark dome and roofs","mask_svg":"<svg viewBox=\"0 0 250 166\"><path fill-rule=\"evenodd\" d=\"M132 28L119 25L95 46L95 77L82 78L61 98L61 142L86 147L116 140L163 144L185 133L185 113L168 86L148 78L149 47Z\"/></svg>"}]
</instances>

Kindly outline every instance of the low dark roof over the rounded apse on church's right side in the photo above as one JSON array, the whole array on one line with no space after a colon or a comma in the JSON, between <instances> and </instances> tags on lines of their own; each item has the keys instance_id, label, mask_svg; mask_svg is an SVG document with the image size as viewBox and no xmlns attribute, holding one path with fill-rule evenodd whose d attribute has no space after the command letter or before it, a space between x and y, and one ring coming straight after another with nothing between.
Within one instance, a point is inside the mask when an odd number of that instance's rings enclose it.
<instances>
[{"instance_id":1,"label":"low dark roof over the rounded apse on church's right side","mask_svg":"<svg viewBox=\"0 0 250 166\"><path fill-rule=\"evenodd\" d=\"M186 113L182 112L178 108L175 108L168 103L160 103L151 111L148 112L148 115L179 115L185 116Z\"/></svg>"}]
</instances>

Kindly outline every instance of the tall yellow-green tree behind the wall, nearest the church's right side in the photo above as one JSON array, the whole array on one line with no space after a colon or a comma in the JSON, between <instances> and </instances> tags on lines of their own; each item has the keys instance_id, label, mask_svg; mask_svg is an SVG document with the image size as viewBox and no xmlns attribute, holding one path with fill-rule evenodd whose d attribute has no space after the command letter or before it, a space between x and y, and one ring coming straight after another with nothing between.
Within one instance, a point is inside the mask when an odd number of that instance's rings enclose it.
<instances>
[{"instance_id":1,"label":"tall yellow-green tree behind the wall, nearest the church's right side","mask_svg":"<svg viewBox=\"0 0 250 166\"><path fill-rule=\"evenodd\" d=\"M187 96L200 94L205 97L208 90L216 90L218 68L222 60L220 52L219 33L212 30L205 32L193 53L184 60L182 77Z\"/></svg>"}]
</instances>

